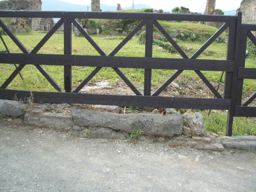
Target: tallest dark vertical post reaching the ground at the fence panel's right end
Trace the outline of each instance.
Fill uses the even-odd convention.
[[[239,53],[240,53],[241,22],[242,22],[242,13],[237,12],[236,28],[229,29],[229,30],[234,30],[236,36],[235,36],[235,46],[234,46],[235,50],[233,52],[233,54],[234,54],[234,56],[233,56],[234,57],[234,72],[232,75],[232,82],[231,82],[231,84],[229,84],[229,82],[228,82],[228,84],[226,84],[227,81],[229,81],[227,79],[227,78],[229,78],[229,75],[226,76],[227,81],[225,82],[225,84],[226,84],[225,86],[230,86],[230,88],[231,88],[231,91],[228,91],[228,92],[230,92],[230,95],[228,93],[226,93],[226,91],[225,91],[225,94],[226,94],[225,96],[230,96],[230,99],[231,99],[230,110],[228,111],[228,118],[227,118],[227,131],[226,131],[227,136],[232,136],[234,109],[235,109],[235,102],[236,102],[237,73],[238,73]],[[227,88],[227,87],[225,87],[225,88]]]

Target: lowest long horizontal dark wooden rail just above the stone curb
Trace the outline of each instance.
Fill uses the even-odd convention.
[[[26,99],[33,94],[34,102],[48,103],[78,103],[117,106],[137,106],[154,108],[183,108],[183,109],[230,109],[230,99],[202,99],[159,97],[142,95],[100,95],[63,92],[39,92],[0,89],[0,99]]]

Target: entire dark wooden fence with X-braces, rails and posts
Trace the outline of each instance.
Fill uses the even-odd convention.
[[[191,15],[191,14],[155,14],[155,13],[110,13],[110,12],[37,12],[37,11],[0,11],[3,17],[39,17],[39,18],[61,18],[58,23],[45,35],[45,37],[29,52],[17,39],[12,31],[0,19],[0,26],[22,50],[23,54],[1,53],[0,63],[19,64],[17,69],[0,87],[0,98],[12,100],[14,98],[24,99],[34,95],[35,102],[52,103],[80,103],[80,104],[102,104],[119,106],[145,106],[156,108],[186,108],[186,109],[219,109],[229,110],[227,135],[232,135],[233,116],[256,116],[256,108],[247,105],[256,97],[256,92],[243,104],[241,95],[243,79],[255,79],[256,69],[244,68],[247,35],[256,43],[251,30],[256,30],[256,25],[241,24],[241,13],[237,16],[222,15]],[[86,31],[80,26],[75,18],[94,19],[137,19],[142,20],[138,26],[109,54],[95,43]],[[173,38],[157,22],[157,20],[177,21],[202,21],[222,22],[223,26],[212,37],[196,51],[190,58],[176,44]],[[36,54],[48,39],[64,23],[64,55]],[[99,52],[100,56],[72,55],[71,52],[71,25],[74,25],[90,44]],[[116,57],[115,54],[144,26],[146,25],[145,57]],[[183,59],[152,58],[153,27],[156,26],[165,38],[179,52]],[[229,28],[228,49],[226,60],[206,60],[197,57],[216,40],[223,31]],[[6,89],[25,65],[35,65],[51,85],[59,92],[21,91]],[[41,65],[64,66],[65,92],[61,92],[59,85],[45,71]],[[72,66],[95,67],[92,73],[75,89],[72,89]],[[102,68],[111,67],[131,88],[135,95],[102,95],[78,93]],[[141,93],[132,82],[122,73],[119,68],[143,68],[144,93]],[[176,69],[177,71],[166,80],[153,94],[151,94],[152,69]],[[160,97],[158,96],[175,78],[184,70],[194,70],[204,81],[207,87],[216,96],[209,98],[182,98],[182,97]],[[212,86],[201,71],[225,71],[224,97]],[[73,92],[71,92],[74,90]]]

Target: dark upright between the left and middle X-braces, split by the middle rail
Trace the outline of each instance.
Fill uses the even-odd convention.
[[[72,54],[72,25],[71,19],[67,18],[64,21],[64,54]],[[72,90],[72,67],[64,66],[64,87],[66,92]]]

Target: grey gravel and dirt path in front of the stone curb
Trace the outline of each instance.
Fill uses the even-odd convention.
[[[0,122],[0,191],[256,191],[256,153],[85,139]]]

